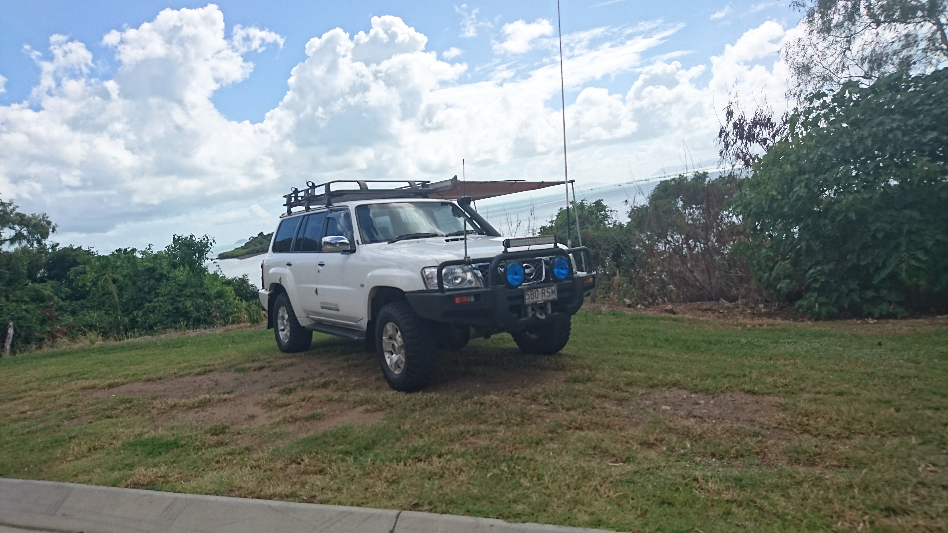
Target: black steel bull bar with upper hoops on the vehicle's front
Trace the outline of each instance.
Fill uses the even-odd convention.
[[[557,299],[551,303],[552,313],[544,318],[524,317],[522,307],[524,287],[511,287],[502,282],[499,267],[502,263],[541,257],[570,256],[582,254],[584,268],[588,268],[589,248],[544,248],[524,251],[506,251],[491,258],[446,261],[438,266],[437,289],[405,293],[415,312],[422,318],[437,322],[452,322],[469,325],[483,332],[501,332],[520,329],[534,324],[564,320],[575,314],[583,304],[586,291],[595,287],[595,274],[586,272],[577,275],[573,262],[570,275],[563,281],[544,281],[525,288],[556,285]],[[486,286],[447,290],[444,284],[444,269],[454,265],[476,265],[489,263]]]

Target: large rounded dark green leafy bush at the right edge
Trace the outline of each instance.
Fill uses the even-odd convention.
[[[817,317],[948,302],[948,71],[816,93],[738,202],[759,283]]]

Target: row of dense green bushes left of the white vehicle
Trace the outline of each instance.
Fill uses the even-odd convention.
[[[122,338],[167,329],[263,319],[245,277],[204,267],[213,241],[175,235],[162,250],[47,245],[46,215],[0,202],[0,335],[13,322],[13,350],[86,337]]]

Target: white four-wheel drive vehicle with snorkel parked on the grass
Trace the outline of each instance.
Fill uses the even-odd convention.
[[[364,340],[392,388],[412,391],[433,376],[436,349],[464,347],[472,330],[509,332],[531,354],[566,345],[595,285],[577,270],[586,248],[501,236],[469,196],[450,201],[456,176],[370,187],[388,183],[309,182],[285,195],[260,290],[283,352],[308,349],[313,331]]]

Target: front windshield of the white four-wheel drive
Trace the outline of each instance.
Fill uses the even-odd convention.
[[[397,202],[356,207],[365,244],[383,241],[446,237],[485,232],[465,211],[450,202]]]

